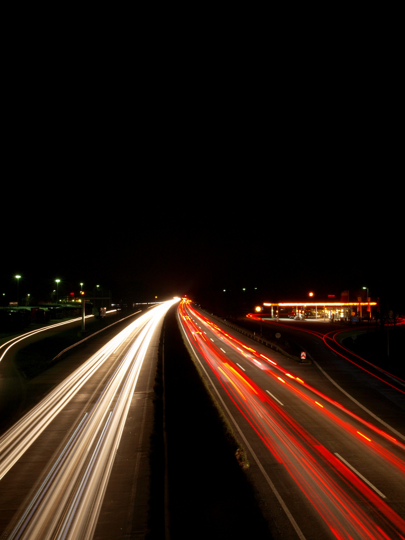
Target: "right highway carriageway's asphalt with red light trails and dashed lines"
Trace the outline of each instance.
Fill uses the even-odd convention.
[[[390,410],[404,414],[403,381],[356,366],[359,380],[345,388],[338,373],[354,365],[344,357],[346,372],[335,363],[328,373],[327,361],[299,365],[275,355],[188,301],[178,313],[195,361],[247,448],[275,535],[405,538],[405,426],[387,421]]]

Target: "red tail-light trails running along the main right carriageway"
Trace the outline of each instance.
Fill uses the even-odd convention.
[[[271,399],[272,394],[240,369],[238,363],[231,360],[231,354],[225,353],[224,347],[230,347],[232,354],[241,355],[251,362],[252,367],[265,373],[268,381],[273,381],[272,388],[274,381],[282,384],[284,396],[299,400],[304,410],[310,407],[312,417],[321,415],[331,433],[343,437],[357,453],[367,453],[370,459],[389,471],[387,474],[402,478],[405,485],[402,456],[405,447],[401,443],[234,338],[189,302],[180,303],[179,317],[190,343],[210,366],[228,399],[288,471],[329,529],[331,538],[405,538],[405,521],[390,507],[386,496],[363,481],[364,476],[356,474],[343,458],[336,457],[340,454],[328,449],[301,426],[281,401]],[[203,328],[207,333],[211,331],[214,338],[208,338]],[[218,343],[214,342],[215,337]],[[393,448],[389,448],[390,445]]]

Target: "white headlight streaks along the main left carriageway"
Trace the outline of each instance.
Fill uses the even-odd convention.
[[[3,467],[5,474],[49,425],[51,420],[48,415],[53,419],[97,367],[117,350],[119,343],[122,344],[123,350],[126,350],[125,355],[92,410],[85,415],[56,458],[55,464],[8,537],[10,540],[92,538],[147,348],[158,323],[174,302],[176,300],[161,304],[131,323],[68,377],[69,381],[63,381],[47,396],[48,399],[40,402],[35,413],[26,415],[18,427],[11,428],[2,437],[0,453],[9,457],[8,464]],[[135,333],[137,336],[133,341]],[[131,341],[132,345],[128,347]],[[69,399],[65,398],[65,387],[75,381],[75,392],[68,393]],[[46,411],[43,413],[42,409]],[[30,424],[27,422],[31,419],[33,433],[24,435],[24,428],[30,432]]]

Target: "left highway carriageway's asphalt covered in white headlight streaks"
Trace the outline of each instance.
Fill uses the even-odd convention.
[[[138,434],[143,430],[146,413],[136,409],[143,410],[151,392],[151,370],[141,388],[138,379],[145,359],[156,356],[156,349],[149,352],[151,342],[158,342],[161,321],[176,301],[129,323],[0,438],[2,538],[93,537],[125,426]],[[139,417],[137,424],[131,415]],[[135,453],[131,448],[127,463]],[[130,498],[136,491],[135,469],[128,470]],[[117,501],[115,507],[118,515]],[[97,537],[124,537],[132,527],[131,514],[117,520],[117,527],[118,532],[110,527]]]

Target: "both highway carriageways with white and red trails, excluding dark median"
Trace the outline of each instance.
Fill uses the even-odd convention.
[[[147,506],[148,366],[170,305],[100,346],[0,438],[2,540],[143,537],[146,522],[134,531],[134,516]],[[247,450],[275,538],[405,538],[403,381],[350,355],[332,334],[303,328],[319,354],[300,365],[188,301],[178,315]]]

